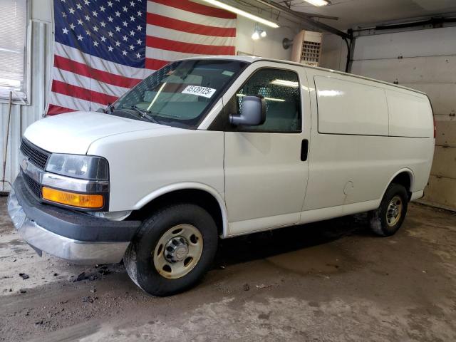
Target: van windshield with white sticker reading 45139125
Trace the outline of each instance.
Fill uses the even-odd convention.
[[[132,118],[180,128],[197,128],[212,104],[246,65],[242,61],[187,60],[170,63],[112,106]]]

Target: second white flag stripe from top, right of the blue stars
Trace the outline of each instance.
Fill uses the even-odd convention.
[[[201,34],[187,33],[149,24],[147,24],[146,34],[147,36],[169,39],[171,41],[217,46],[234,46],[235,39],[234,37],[203,36]]]

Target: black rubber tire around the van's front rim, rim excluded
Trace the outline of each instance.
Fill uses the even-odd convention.
[[[193,269],[177,279],[160,275],[154,265],[155,247],[165,232],[179,224],[191,224],[202,236],[202,254]],[[209,270],[217,252],[217,226],[212,216],[195,204],[172,204],[142,222],[123,257],[130,278],[147,294],[170,296],[190,289]]]

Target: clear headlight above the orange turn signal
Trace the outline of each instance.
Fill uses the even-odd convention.
[[[83,180],[108,180],[108,160],[90,155],[51,154],[46,171]]]

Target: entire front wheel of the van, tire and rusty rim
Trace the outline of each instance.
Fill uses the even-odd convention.
[[[177,294],[209,270],[217,242],[216,224],[206,210],[195,204],[173,204],[142,223],[125,252],[125,269],[147,294]]]

